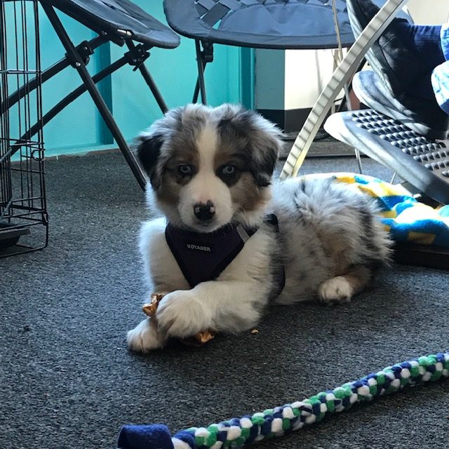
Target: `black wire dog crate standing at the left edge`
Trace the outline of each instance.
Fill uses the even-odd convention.
[[[48,243],[38,8],[0,0],[0,257]]]

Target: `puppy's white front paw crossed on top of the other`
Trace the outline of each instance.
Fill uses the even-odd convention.
[[[170,337],[191,337],[211,327],[210,311],[189,290],[163,297],[156,311],[159,329]]]

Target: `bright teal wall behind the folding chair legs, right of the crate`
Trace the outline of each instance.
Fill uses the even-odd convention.
[[[135,3],[166,23],[161,0],[135,0]],[[95,35],[72,18],[59,13],[58,15],[75,45]],[[41,61],[42,67],[46,68],[60,60],[65,51],[43,12],[40,25]],[[89,72],[98,72],[110,60],[120,58],[123,51],[124,48],[113,43],[102,46],[91,57]],[[192,101],[196,80],[194,41],[181,38],[180,46],[173,50],[152,48],[150,53],[146,64],[168,107],[177,107]],[[208,103],[220,105],[222,102],[243,102],[250,106],[253,100],[248,89],[252,83],[248,82],[246,77],[251,76],[252,52],[246,50],[242,53],[237,47],[216,45],[214,55],[214,62],[206,68]],[[43,112],[78,85],[79,76],[72,67],[45,83],[42,91]],[[133,140],[140,130],[161,117],[161,111],[149,88],[140,73],[133,72],[133,67],[123,67],[109,79],[102,81],[100,89],[127,140]],[[44,139],[47,156],[115,146],[109,130],[87,93],[48,123],[44,128]]]

